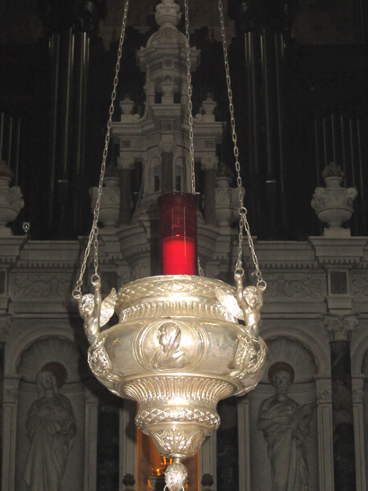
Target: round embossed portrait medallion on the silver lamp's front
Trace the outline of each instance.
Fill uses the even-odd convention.
[[[157,320],[136,338],[136,359],[145,368],[170,372],[188,370],[201,359],[205,332],[182,320]]]

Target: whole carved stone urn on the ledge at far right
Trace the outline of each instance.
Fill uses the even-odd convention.
[[[355,188],[343,188],[341,168],[331,163],[323,171],[326,188],[316,188],[311,206],[321,222],[328,225],[324,229],[325,237],[349,237],[350,229],[343,228],[353,215],[353,201],[357,196]]]

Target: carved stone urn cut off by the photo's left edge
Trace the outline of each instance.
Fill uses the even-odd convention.
[[[0,163],[0,237],[9,237],[12,231],[10,224],[19,215],[24,206],[22,191],[17,186],[10,187],[13,172],[6,162]]]

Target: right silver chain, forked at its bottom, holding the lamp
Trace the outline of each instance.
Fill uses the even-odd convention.
[[[232,104],[232,81],[230,78],[230,68],[229,68],[229,59],[227,56],[227,43],[226,43],[226,35],[225,35],[225,27],[223,21],[223,3],[221,0],[218,0],[218,10],[220,13],[220,24],[221,24],[221,36],[223,39],[223,60],[225,65],[225,73],[226,73],[226,85],[227,85],[227,97],[229,101],[229,111],[230,111],[230,123],[232,127],[232,143],[233,143],[233,154],[235,157],[235,170],[237,173],[236,182],[239,189],[239,208],[238,213],[240,215],[239,219],[239,243],[238,243],[238,259],[235,265],[235,272],[240,273],[241,276],[244,275],[244,269],[242,267],[242,241],[243,241],[243,231],[247,233],[248,243],[250,246],[251,257],[253,259],[255,272],[254,275],[257,276],[257,285],[258,288],[263,291],[266,290],[267,283],[262,277],[262,273],[258,266],[258,258],[256,251],[254,249],[253,239],[250,234],[250,224],[247,220],[247,208],[244,206],[244,193],[242,191],[242,181],[241,181],[241,163],[239,162],[239,148],[238,148],[238,136],[236,134],[235,127],[235,117],[234,117],[234,108]]]

